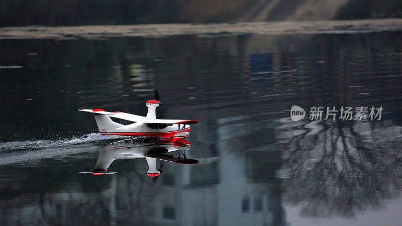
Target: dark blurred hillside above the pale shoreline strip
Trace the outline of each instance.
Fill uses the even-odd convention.
[[[400,17],[400,0],[0,0],[1,27]]]

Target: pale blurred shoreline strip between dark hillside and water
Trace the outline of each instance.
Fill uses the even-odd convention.
[[[346,34],[402,30],[402,19],[248,22],[220,24],[146,24],[2,27],[0,39],[77,39],[106,37],[164,37],[173,35]]]

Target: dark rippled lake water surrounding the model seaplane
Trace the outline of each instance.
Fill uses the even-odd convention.
[[[0,40],[1,224],[399,225],[400,37]],[[156,95],[158,118],[199,121],[186,139],[199,163],[158,160],[154,179],[113,154],[153,141],[100,140],[76,109],[146,115]],[[292,105],[383,112],[293,122]],[[116,174],[78,173],[101,153]]]

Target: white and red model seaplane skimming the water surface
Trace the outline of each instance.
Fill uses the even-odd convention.
[[[149,100],[145,104],[148,107],[146,117],[132,115],[120,111],[108,112],[103,109],[78,110],[93,113],[99,133],[102,135],[102,139],[108,134],[171,138],[173,142],[176,142],[190,135],[188,133],[188,131],[191,129],[190,126],[188,126],[189,124],[198,123],[196,120],[156,119],[155,110],[156,107],[161,104],[161,102],[158,100]],[[113,122],[110,117],[123,120],[122,124]],[[135,123],[127,125],[127,121]]]

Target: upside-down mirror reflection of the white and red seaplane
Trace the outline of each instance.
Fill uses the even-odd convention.
[[[185,151],[189,150],[190,146],[191,144],[184,140],[172,142],[171,139],[164,139],[145,145],[103,149],[99,151],[95,168],[91,171],[79,171],[79,173],[93,175],[115,174],[116,172],[114,171],[108,171],[114,160],[145,158],[148,163],[147,175],[156,177],[163,172],[161,169],[157,169],[156,160],[187,165],[197,164],[198,160],[186,158]],[[177,156],[169,154],[169,152],[173,151],[178,151]]]

